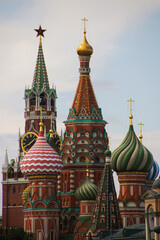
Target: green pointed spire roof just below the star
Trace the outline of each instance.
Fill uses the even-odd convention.
[[[41,41],[38,49],[37,63],[33,77],[32,89],[37,95],[39,95],[42,91],[45,91],[49,94],[49,81]]]

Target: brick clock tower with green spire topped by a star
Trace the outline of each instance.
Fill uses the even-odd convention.
[[[47,70],[44,61],[42,40],[43,30],[41,26],[36,29],[37,36],[40,36],[37,62],[33,77],[31,89],[25,89],[25,133],[19,134],[19,156],[18,160],[12,159],[8,161],[8,154],[2,166],[2,226],[6,229],[11,227],[23,227],[23,204],[22,193],[28,186],[28,180],[23,177],[20,170],[20,160],[28,151],[29,147],[35,142],[35,135],[39,132],[40,107],[42,107],[42,119],[45,128],[45,136],[49,136],[50,116],[52,116],[52,125],[54,132],[56,131],[56,90],[50,88]],[[30,135],[30,132],[31,135]],[[37,138],[37,135],[36,135]],[[22,139],[23,149],[22,151]],[[13,216],[17,216],[13,218]]]

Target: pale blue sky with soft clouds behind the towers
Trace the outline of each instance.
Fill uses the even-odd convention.
[[[90,76],[108,123],[110,149],[128,131],[127,100],[132,98],[134,130],[138,136],[143,122],[143,144],[160,164],[160,0],[0,0],[0,167],[6,147],[9,159],[18,156],[24,90],[33,80],[39,46],[34,29],[39,25],[47,29],[42,44],[50,87],[54,84],[58,94],[57,130],[65,129],[79,81],[76,49],[84,17],[94,51]]]

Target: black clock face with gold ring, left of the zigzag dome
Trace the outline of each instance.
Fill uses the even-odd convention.
[[[36,142],[38,135],[35,132],[26,133],[21,140],[21,147],[23,152],[28,152],[28,150]]]

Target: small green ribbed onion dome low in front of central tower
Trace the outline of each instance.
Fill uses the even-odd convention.
[[[95,200],[98,193],[98,187],[94,185],[89,176],[86,177],[84,182],[77,188],[75,195],[82,200]]]

